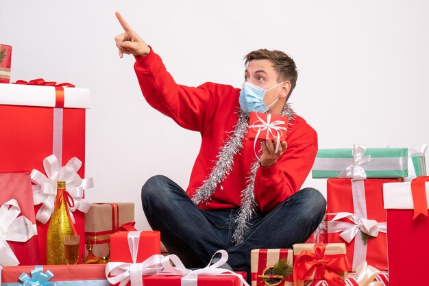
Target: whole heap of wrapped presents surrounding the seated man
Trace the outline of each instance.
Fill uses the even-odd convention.
[[[159,232],[134,229],[134,204],[89,203],[89,90],[10,84],[11,51],[0,45],[1,285],[248,285],[245,273],[219,268],[224,250],[217,263],[188,270],[180,257],[161,255]],[[252,250],[252,286],[425,285],[425,152],[319,150],[312,177],[328,179],[326,216],[304,244]],[[67,231],[79,235],[77,263],[58,260]]]

